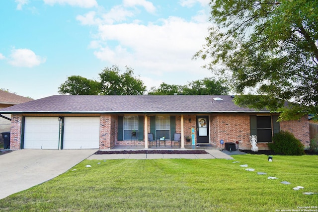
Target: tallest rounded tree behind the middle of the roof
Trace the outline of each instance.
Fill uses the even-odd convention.
[[[105,68],[99,73],[102,95],[142,95],[146,86],[141,79],[133,76],[134,71],[126,66],[126,71],[120,73],[118,66]]]

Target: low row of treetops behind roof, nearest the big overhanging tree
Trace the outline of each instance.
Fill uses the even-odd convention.
[[[225,95],[228,87],[223,85],[224,81],[213,78],[204,78],[188,82],[186,85],[169,85],[162,82],[159,88],[152,87],[148,95],[173,95],[175,93],[184,95]]]

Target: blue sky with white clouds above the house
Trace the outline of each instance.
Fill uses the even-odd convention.
[[[0,0],[0,88],[39,99],[68,76],[99,80],[125,66],[144,85],[211,77],[192,60],[208,28],[209,0]]]

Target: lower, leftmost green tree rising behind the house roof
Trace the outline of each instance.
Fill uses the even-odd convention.
[[[79,75],[69,76],[59,87],[60,94],[70,95],[98,95],[100,93],[100,83],[87,79]]]

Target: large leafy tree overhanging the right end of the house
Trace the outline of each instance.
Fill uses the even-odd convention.
[[[240,105],[283,112],[283,119],[318,113],[318,0],[213,0],[204,48],[194,58],[230,72]],[[264,97],[266,96],[266,97]],[[281,100],[298,104],[286,107]],[[299,116],[296,116],[298,114]]]

